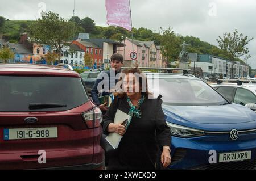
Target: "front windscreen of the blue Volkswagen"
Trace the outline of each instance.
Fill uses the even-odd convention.
[[[159,91],[156,91],[156,89]],[[152,90],[163,96],[163,104],[212,106],[228,103],[212,87],[196,79],[159,78],[159,86],[154,86]]]

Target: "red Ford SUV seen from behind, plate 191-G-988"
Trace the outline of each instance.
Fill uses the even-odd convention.
[[[101,121],[75,71],[0,64],[0,169],[104,169]]]

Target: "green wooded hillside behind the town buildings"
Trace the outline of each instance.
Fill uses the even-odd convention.
[[[85,20],[86,19],[86,20]],[[70,19],[76,23],[76,35],[74,35],[74,39],[78,35],[79,32],[88,32],[91,38],[106,38],[106,39],[113,39],[116,41],[122,41],[123,37],[131,37],[131,32],[125,30],[121,27],[100,27],[95,26],[94,20],[86,17],[81,19],[79,17],[73,17]],[[30,32],[30,26],[34,21],[26,21],[26,20],[5,20],[3,24],[2,30],[3,35],[9,36],[9,41],[11,43],[18,43],[20,34]],[[83,23],[85,22],[85,23]],[[0,27],[1,28],[1,27]],[[162,34],[156,33],[155,30],[152,31],[147,28],[133,28],[133,36],[134,39],[141,40],[141,41],[154,41],[156,45],[162,45],[163,37]],[[217,38],[217,37],[216,37]],[[227,58],[218,47],[211,45],[207,42],[201,41],[197,37],[193,36],[181,36],[176,34],[175,35],[175,43],[176,50],[173,55],[172,60],[176,60],[179,57],[179,52],[181,51],[180,45],[185,41],[187,44],[191,46],[187,47],[189,53],[197,53],[197,54],[212,54],[214,56],[219,56],[223,58]]]

